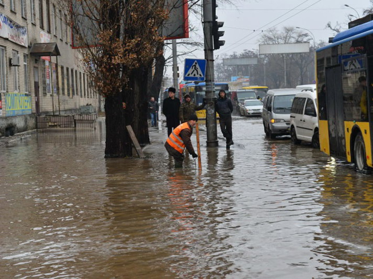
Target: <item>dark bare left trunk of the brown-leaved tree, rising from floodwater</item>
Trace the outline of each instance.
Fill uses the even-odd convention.
[[[132,157],[132,142],[126,130],[126,109],[123,109],[121,93],[106,97],[105,158]]]

